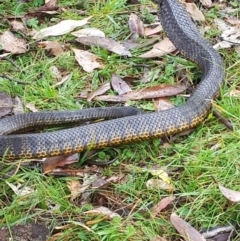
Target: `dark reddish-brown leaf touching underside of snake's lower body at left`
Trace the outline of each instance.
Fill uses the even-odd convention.
[[[78,162],[78,154],[48,157],[43,162],[42,170],[43,173],[46,174],[56,167],[62,167],[76,162]]]

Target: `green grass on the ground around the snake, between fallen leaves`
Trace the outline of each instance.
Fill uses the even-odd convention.
[[[41,1],[31,1],[17,5],[17,1],[3,1],[0,5],[1,15],[23,14],[41,5]],[[59,22],[62,19],[81,19],[75,12],[75,6],[93,15],[88,27],[97,27],[106,35],[117,41],[125,40],[129,36],[127,26],[129,13],[137,11],[136,6],[126,5],[126,1],[59,1],[66,11],[58,16],[44,19],[43,25],[49,21]],[[152,3],[148,3],[151,4]],[[206,12],[209,24],[211,18],[219,16],[218,8]],[[146,11],[137,12],[143,19],[151,20]],[[147,21],[146,20],[146,21]],[[1,32],[8,29],[7,22],[1,23]],[[41,26],[40,26],[41,27]],[[218,32],[213,27],[206,33],[206,38],[214,42]],[[72,46],[74,37],[67,35],[48,38],[66,42]],[[135,83],[134,89],[155,84],[174,83],[176,69],[183,69],[188,80],[199,78],[200,72],[196,66],[182,56],[165,56],[156,64],[154,60],[143,60],[137,55],[143,50],[134,50],[132,58],[123,58],[111,54],[106,50],[91,48],[92,52],[102,58],[105,68],[85,73],[74,60],[73,53],[65,51],[60,57],[49,57],[45,52],[30,44],[31,51],[10,58],[19,66],[18,71],[8,61],[1,61],[0,73],[5,73],[15,79],[25,81],[26,85],[17,84],[6,79],[0,79],[0,91],[11,96],[19,96],[23,104],[32,103],[39,110],[74,110],[88,106],[105,106],[106,103],[75,98],[85,88],[95,90],[102,83],[108,82],[113,73],[124,76],[141,78],[146,69],[140,64],[144,62],[152,73],[159,75],[157,80],[147,84]],[[223,197],[213,182],[212,177],[222,185],[240,190],[240,108],[239,98],[231,97],[230,91],[239,89],[240,61],[233,50],[220,51],[225,62],[225,85],[221,89],[220,98],[215,100],[216,106],[222,110],[222,115],[228,118],[234,130],[229,131],[212,114],[187,136],[169,139],[169,145],[162,145],[166,140],[150,140],[132,145],[118,147],[116,163],[103,169],[105,176],[124,173],[125,178],[120,183],[113,184],[106,190],[91,189],[88,203],[82,204],[79,199],[70,202],[70,192],[67,181],[70,177],[54,178],[44,176],[38,170],[21,167],[15,175],[4,177],[16,163],[1,162],[0,180],[0,226],[12,226],[26,222],[43,222],[50,230],[57,226],[68,224],[67,228],[58,231],[55,240],[150,240],[156,235],[167,240],[179,240],[179,236],[170,224],[169,217],[176,212],[196,229],[227,225],[231,222],[240,224],[240,206]],[[50,74],[49,67],[55,65],[59,69],[71,72],[71,79],[63,85],[52,88],[56,83]],[[179,67],[180,66],[180,67]],[[183,98],[172,98],[175,104],[182,104]],[[151,101],[132,101],[132,105],[152,109]],[[108,155],[108,149],[97,153],[99,157]],[[148,172],[138,172],[137,167],[152,168],[158,165],[167,169],[174,185],[173,194],[176,200],[157,217],[152,217],[149,208],[170,195],[161,189],[147,189],[146,182],[152,178]],[[128,167],[128,168],[127,168]],[[75,168],[80,168],[75,165]],[[80,178],[80,180],[82,180]],[[35,192],[26,197],[19,197],[13,193],[6,181],[17,185],[21,183]],[[128,215],[122,219],[109,220],[100,215],[90,216],[84,211],[99,205],[103,198],[104,204],[112,211],[128,210]],[[50,208],[53,206],[55,208]],[[87,225],[92,232],[79,225]],[[239,240],[239,236],[234,240]]]

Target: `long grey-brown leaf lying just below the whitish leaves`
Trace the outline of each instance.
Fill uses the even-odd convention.
[[[122,44],[109,38],[90,36],[77,38],[76,40],[81,44],[104,48],[110,52],[113,52],[121,56],[132,56],[131,53],[128,50],[126,50],[126,48],[123,47]]]

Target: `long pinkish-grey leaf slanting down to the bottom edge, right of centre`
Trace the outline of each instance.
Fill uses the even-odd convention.
[[[170,221],[174,228],[182,235],[186,241],[206,241],[205,238],[189,223],[172,213]]]

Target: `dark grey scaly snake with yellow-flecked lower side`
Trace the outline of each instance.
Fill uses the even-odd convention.
[[[45,126],[64,121],[74,123],[75,112],[26,113],[3,118],[0,121],[0,157],[15,160],[66,155],[89,149],[130,144],[136,141],[165,137],[202,123],[212,106],[212,100],[219,94],[224,82],[224,66],[220,55],[201,36],[195,23],[178,0],[155,0],[159,6],[158,15],[169,39],[187,58],[199,66],[202,76],[190,97],[183,105],[171,109],[136,114],[91,122],[63,130],[44,133],[15,134],[15,130],[28,126]],[[102,117],[111,113],[111,107],[82,110],[86,119],[89,113],[100,111]],[[120,111],[121,112],[121,111]],[[124,111],[123,111],[124,112]],[[131,112],[131,110],[130,110]],[[71,113],[71,114],[70,114]],[[80,114],[81,115],[81,114]],[[83,119],[85,119],[83,117]],[[97,119],[96,118],[96,119]],[[46,122],[46,123],[44,123]],[[21,124],[22,123],[22,124]],[[32,124],[31,124],[32,123]],[[11,134],[11,132],[13,132]]]

